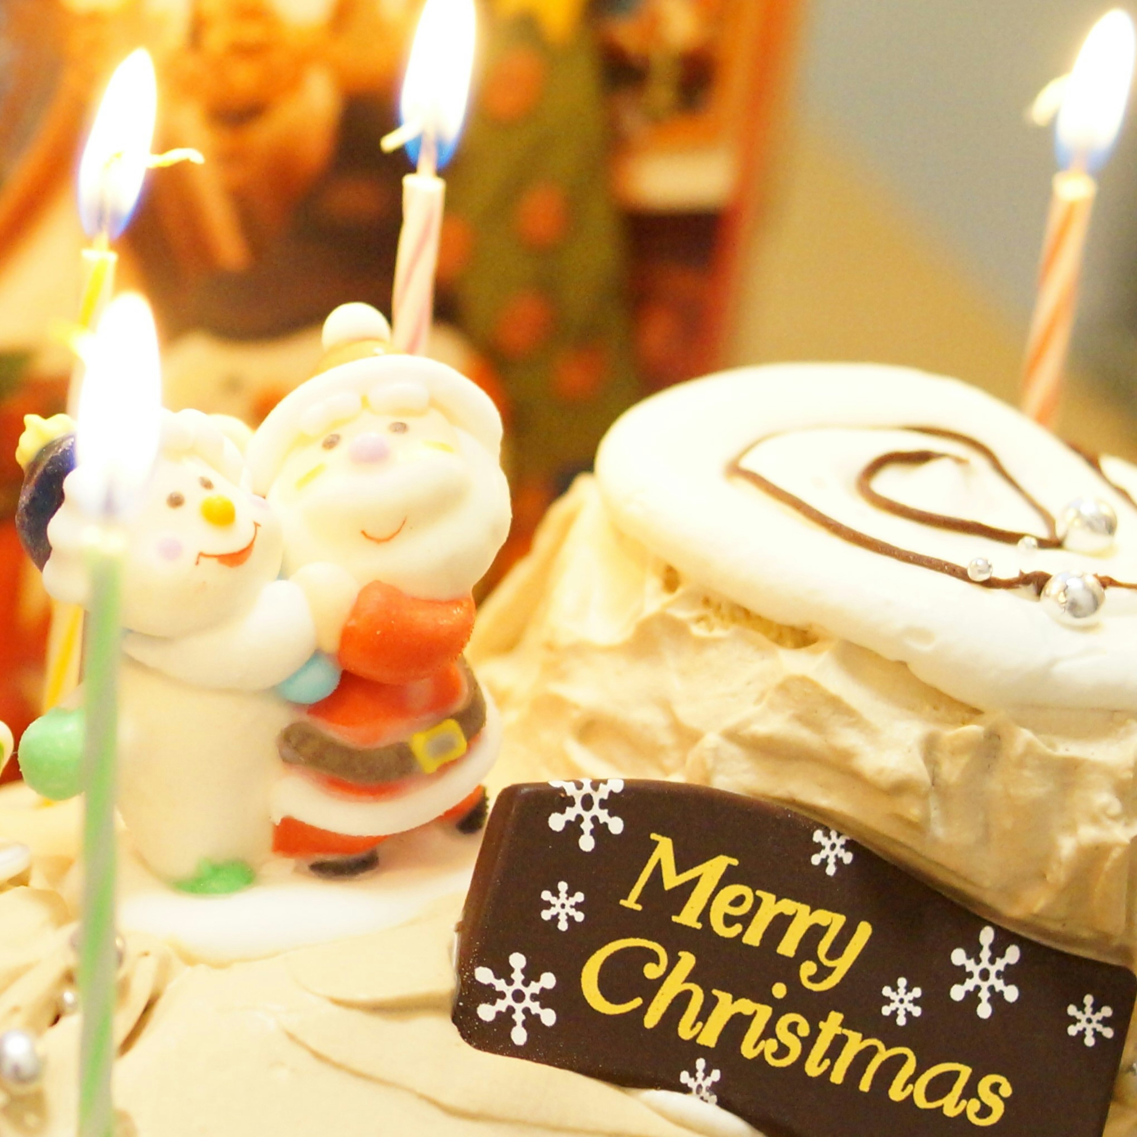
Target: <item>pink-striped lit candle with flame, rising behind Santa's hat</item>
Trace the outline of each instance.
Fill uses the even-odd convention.
[[[402,125],[384,150],[407,147],[417,160],[402,179],[402,230],[391,297],[392,343],[423,355],[434,314],[434,269],[449,161],[466,116],[474,64],[474,0],[426,0],[402,81]]]

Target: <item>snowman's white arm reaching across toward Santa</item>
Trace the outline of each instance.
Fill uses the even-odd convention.
[[[304,591],[276,580],[235,620],[172,639],[128,632],[123,649],[139,663],[196,687],[259,691],[304,666],[316,649],[316,628]]]

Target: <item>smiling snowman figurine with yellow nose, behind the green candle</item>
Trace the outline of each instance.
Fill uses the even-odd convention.
[[[88,600],[84,521],[70,498],[67,423],[27,435],[19,528],[52,598]],[[55,433],[57,437],[45,437]],[[315,650],[302,591],[277,580],[280,523],[241,488],[243,462],[217,422],[166,413],[161,455],[131,518],[123,580],[119,808],[149,868],[190,891],[231,891],[269,856],[276,735],[273,691]],[[81,691],[28,728],[26,781],[80,791]]]

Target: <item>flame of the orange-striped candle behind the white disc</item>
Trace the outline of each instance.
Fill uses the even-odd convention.
[[[1134,24],[1120,8],[1093,27],[1078,55],[1055,127],[1063,166],[1098,169],[1109,158],[1129,101]]]

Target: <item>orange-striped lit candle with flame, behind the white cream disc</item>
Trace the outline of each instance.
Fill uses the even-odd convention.
[[[1027,341],[1022,409],[1049,426],[1057,412],[1073,329],[1089,216],[1101,169],[1124,117],[1134,70],[1134,25],[1120,9],[1103,16],[1065,81],[1055,141],[1054,177],[1038,296]]]

